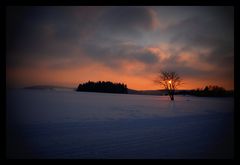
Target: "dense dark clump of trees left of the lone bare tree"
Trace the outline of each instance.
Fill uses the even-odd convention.
[[[77,91],[103,92],[103,93],[128,93],[127,85],[123,83],[112,83],[110,81],[98,81],[79,84]]]

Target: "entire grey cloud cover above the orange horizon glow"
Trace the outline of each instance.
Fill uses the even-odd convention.
[[[49,68],[63,69],[88,59],[118,70],[130,61],[146,73],[160,67],[213,76],[179,60],[190,53],[200,64],[224,66],[224,76],[233,73],[233,7],[8,7],[6,16],[8,67],[50,61]],[[152,44],[168,45],[169,58],[151,51]]]

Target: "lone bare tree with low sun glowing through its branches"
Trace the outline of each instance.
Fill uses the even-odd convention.
[[[168,71],[160,72],[155,82],[167,90],[168,95],[172,101],[174,100],[175,90],[179,85],[182,84],[182,80],[176,72]]]

